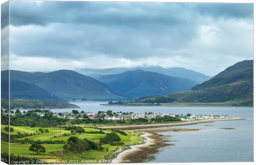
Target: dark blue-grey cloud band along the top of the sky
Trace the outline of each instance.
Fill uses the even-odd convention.
[[[184,24],[189,15],[252,18],[252,4],[159,3],[159,2],[61,2],[11,1],[13,26],[50,23],[102,24],[140,27],[142,25]]]

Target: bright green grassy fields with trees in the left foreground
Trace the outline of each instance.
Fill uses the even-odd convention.
[[[7,133],[4,128],[7,127],[7,125],[1,125],[1,131],[4,133]],[[24,126],[11,126],[14,131],[11,133],[12,135],[17,134],[17,132],[20,132],[21,134],[24,133],[35,133],[32,136],[26,136],[22,138],[18,138],[16,140],[24,140],[28,138],[29,140],[33,141],[67,141],[69,137],[74,136],[78,137],[80,139],[89,139],[91,141],[99,141],[101,138],[105,137],[106,134],[92,134],[92,133],[76,133],[76,134],[70,134],[69,136],[64,136],[64,133],[69,134],[71,133],[70,130],[64,130],[64,128],[59,127],[24,127]],[[44,132],[41,133],[38,129],[43,129]],[[45,129],[49,130],[49,132],[45,132]],[[96,128],[91,127],[83,127],[83,129],[86,132],[89,131],[99,131]],[[103,132],[110,133],[111,130],[102,130]],[[40,133],[39,133],[40,132]],[[119,134],[115,132],[120,138],[121,142],[125,143],[126,145],[129,144],[137,144],[142,142],[142,137],[139,137],[140,132],[137,131],[128,131],[126,132],[127,136]],[[5,141],[1,141],[1,151],[2,152],[8,152],[8,143]],[[41,160],[103,160],[103,159],[109,159],[114,157],[115,151],[119,150],[120,148],[127,148],[128,146],[110,146],[109,144],[103,145],[104,149],[108,148],[108,151],[86,151],[85,153],[69,153],[68,155],[65,155],[62,153],[62,148],[64,144],[42,144],[46,152],[40,153],[37,155],[35,152],[29,151],[29,147],[31,144],[19,144],[19,143],[11,143],[10,144],[10,153],[13,153],[14,155],[20,155],[20,156],[26,156],[29,158],[38,158]],[[69,162],[66,162],[69,163]],[[70,162],[72,163],[72,162]],[[73,162],[75,163],[75,162]],[[83,162],[78,162],[83,163]]]

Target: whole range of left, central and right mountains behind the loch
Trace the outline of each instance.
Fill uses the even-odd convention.
[[[1,71],[1,97],[5,99],[8,98],[7,77],[8,71]],[[238,62],[201,84],[191,78],[141,69],[101,75],[97,80],[69,70],[50,73],[11,70],[10,78],[11,99],[63,101],[128,100],[143,97],[130,103],[253,105],[253,60]]]

